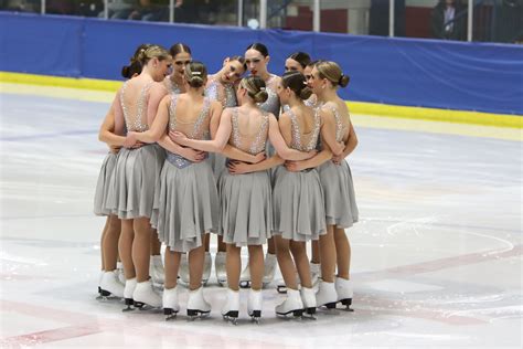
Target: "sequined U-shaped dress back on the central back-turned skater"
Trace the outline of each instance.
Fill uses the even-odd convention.
[[[250,155],[257,155],[265,150],[265,142],[269,133],[269,115],[263,113],[264,119],[259,125],[258,131],[255,135],[242,135],[239,131],[239,110],[233,108],[232,121],[233,130],[231,134],[232,144],[235,148],[246,151]]]

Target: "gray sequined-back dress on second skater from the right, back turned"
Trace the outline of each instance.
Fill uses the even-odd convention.
[[[314,113],[314,127],[303,134],[296,115],[287,112],[291,120],[290,148],[313,150],[320,134],[320,115]],[[274,235],[293,241],[318,240],[325,233],[323,190],[317,169],[290,172],[284,166],[275,171],[273,191]]]

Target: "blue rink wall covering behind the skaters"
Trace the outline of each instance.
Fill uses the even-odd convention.
[[[348,101],[523,115],[522,45],[0,13],[3,72],[121,80],[138,44],[177,42],[212,73],[262,42],[276,74],[296,51],[340,63]]]

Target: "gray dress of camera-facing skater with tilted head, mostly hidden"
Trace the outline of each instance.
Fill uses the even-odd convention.
[[[236,101],[236,93],[234,92],[234,86],[232,84],[222,84],[216,78],[212,78],[205,88],[205,96],[211,98],[211,101],[217,101],[222,104],[222,107],[231,108],[238,105]],[[209,160],[213,168],[214,178],[220,178],[220,173],[225,169],[226,157],[222,154],[211,152],[209,154]]]

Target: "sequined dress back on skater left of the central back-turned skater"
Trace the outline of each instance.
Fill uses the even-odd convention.
[[[207,97],[203,98],[202,110],[200,112],[196,120],[192,124],[192,128],[189,126],[189,131],[188,131],[186,127],[189,124],[181,123],[180,120],[177,119],[178,97],[179,95],[171,94],[171,105],[169,106],[169,130],[180,130],[184,133],[185,136],[188,136],[188,138],[191,138],[191,139],[205,139],[207,131],[205,129],[202,129],[202,125],[204,125],[206,119],[211,116],[210,114],[211,99]],[[182,124],[182,125],[179,125],[179,124]],[[182,126],[185,126],[185,127],[182,127]],[[173,154],[170,151],[167,151],[167,160],[180,169],[192,165],[190,160],[181,157],[178,154]]]

